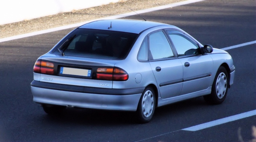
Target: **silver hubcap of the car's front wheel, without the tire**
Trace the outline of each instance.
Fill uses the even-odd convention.
[[[216,94],[219,99],[222,99],[227,90],[227,77],[224,73],[220,73],[216,80]]]

